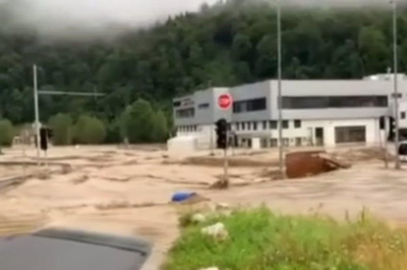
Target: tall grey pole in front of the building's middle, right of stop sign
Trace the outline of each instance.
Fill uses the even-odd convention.
[[[284,176],[283,164],[283,130],[282,130],[282,96],[281,96],[281,3],[277,0],[277,58],[278,58],[278,142],[279,142],[279,168],[281,176]]]

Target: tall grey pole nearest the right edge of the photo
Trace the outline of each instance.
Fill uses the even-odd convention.
[[[393,5],[393,72],[394,72],[394,119],[396,125],[396,136],[394,139],[394,144],[396,148],[396,170],[400,169],[400,157],[398,154],[398,148],[400,146],[400,133],[399,133],[399,112],[398,112],[398,84],[397,84],[397,73],[398,73],[398,56],[397,56],[397,1],[392,0],[390,3]]]

